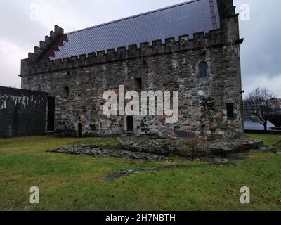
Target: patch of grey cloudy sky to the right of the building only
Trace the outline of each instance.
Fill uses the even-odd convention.
[[[264,86],[281,96],[281,1],[235,0],[237,12],[240,4],[251,9],[250,20],[240,21],[243,87],[249,93]]]

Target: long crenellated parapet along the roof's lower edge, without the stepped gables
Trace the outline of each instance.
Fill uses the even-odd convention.
[[[46,62],[30,63],[30,59],[28,59],[26,63],[23,61],[25,64],[22,67],[22,77],[25,75],[36,75],[39,73],[81,68],[133,58],[145,58],[181,51],[208,49],[214,45],[226,45],[226,43],[223,42],[224,40],[221,30],[214,30],[207,34],[204,34],[204,32],[196,33],[193,35],[192,39],[190,39],[188,35],[183,35],[178,38],[178,41],[172,37],[166,39],[164,43],[162,43],[161,40],[155,40],[152,41],[151,45],[147,42],[140,44],[139,47],[135,44],[119,47],[117,49],[108,49],[107,51],[98,51],[96,53],[93,52]],[[30,57],[34,57],[34,54]]]

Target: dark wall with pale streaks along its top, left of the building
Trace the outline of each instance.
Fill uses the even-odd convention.
[[[48,94],[0,86],[0,137],[43,134]]]

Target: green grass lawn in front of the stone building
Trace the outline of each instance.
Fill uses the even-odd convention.
[[[281,150],[281,136],[248,135]],[[280,210],[281,156],[249,153],[236,167],[207,162],[136,162],[47,153],[78,141],[115,147],[115,139],[55,139],[36,136],[0,140],[0,210]],[[164,165],[190,165],[123,176],[114,172]],[[40,204],[29,203],[29,189]],[[240,203],[240,188],[251,189],[251,204]]]

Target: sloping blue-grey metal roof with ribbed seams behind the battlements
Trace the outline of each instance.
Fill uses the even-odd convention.
[[[216,0],[195,0],[63,34],[41,60],[56,60],[220,28]]]

